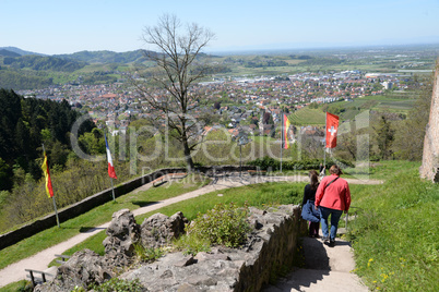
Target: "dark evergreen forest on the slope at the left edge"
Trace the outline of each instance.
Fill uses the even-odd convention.
[[[41,145],[49,150],[50,161],[63,167],[70,149],[68,133],[81,115],[63,100],[56,102],[23,98],[13,90],[0,89],[0,191],[11,191],[13,172],[19,169],[39,180]],[[92,121],[82,124],[79,133],[91,132]]]

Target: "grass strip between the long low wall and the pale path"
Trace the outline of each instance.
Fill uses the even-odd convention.
[[[5,247],[0,251],[0,269],[8,265],[29,257],[45,248],[63,242],[80,232],[84,232],[90,228],[97,227],[111,220],[111,215],[120,209],[128,208],[130,210],[138,209],[147,204],[178,196],[180,194],[191,192],[205,184],[203,178],[193,175],[187,177],[178,182],[174,181],[169,185],[162,187],[152,187],[137,194],[129,193],[118,197],[116,203],[109,202],[93,210],[78,216],[71,220],[61,223],[61,227],[47,229],[34,236],[23,240],[15,245]]]

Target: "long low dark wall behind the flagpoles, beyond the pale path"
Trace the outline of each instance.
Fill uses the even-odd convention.
[[[256,169],[254,167],[242,166],[242,170],[247,171],[249,169]],[[142,175],[140,178],[130,180],[122,184],[115,186],[115,197],[119,197],[121,195],[128,194],[129,192],[142,186],[143,184],[150,183],[167,173],[179,173],[185,172],[186,168],[165,168],[152,173]],[[221,173],[221,172],[230,172],[230,171],[239,171],[239,166],[218,166],[218,167],[202,167],[198,169],[198,171],[203,173]],[[90,211],[91,209],[100,206],[107,202],[112,199],[112,191],[111,188],[107,188],[97,194],[94,194],[90,197],[84,198],[81,202],[78,202],[69,207],[62,208],[58,210],[58,217],[60,222],[64,222],[69,219],[72,219],[76,216],[80,216],[84,212]],[[48,215],[44,218],[37,219],[31,223],[27,223],[20,229],[14,231],[4,233],[0,235],[0,250],[13,245],[24,239],[31,238],[38,232],[41,232],[46,229],[52,228],[57,224],[57,220],[55,217],[55,212]]]

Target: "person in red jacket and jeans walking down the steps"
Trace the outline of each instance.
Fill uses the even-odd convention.
[[[316,192],[316,208],[320,207],[323,242],[329,246],[335,245],[335,235],[340,217],[347,212],[351,206],[351,191],[347,182],[340,178],[342,170],[339,166],[330,168],[330,175],[324,177]],[[328,218],[331,216],[331,232]]]

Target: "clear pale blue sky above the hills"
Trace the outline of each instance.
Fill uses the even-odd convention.
[[[439,44],[439,0],[0,0],[0,47],[152,49],[143,29],[165,13],[213,32],[207,52]]]

